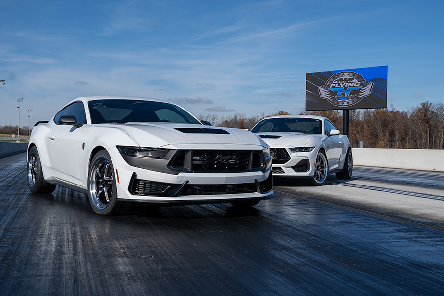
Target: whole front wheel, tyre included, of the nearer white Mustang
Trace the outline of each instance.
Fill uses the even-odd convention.
[[[114,167],[105,150],[94,155],[89,165],[88,200],[94,212],[100,215],[118,214],[125,205],[117,201]]]

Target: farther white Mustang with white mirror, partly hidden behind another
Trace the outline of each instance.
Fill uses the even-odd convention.
[[[350,142],[325,117],[285,115],[262,119],[251,130],[270,146],[273,176],[308,178],[324,185],[329,173],[350,179],[353,158]]]

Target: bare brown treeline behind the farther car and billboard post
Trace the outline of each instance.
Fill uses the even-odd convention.
[[[273,115],[286,115],[279,111]],[[304,111],[306,115],[329,118],[342,130],[342,110]],[[259,120],[268,117],[264,113],[247,117],[243,113],[229,116],[216,114],[199,115],[199,119],[212,125],[251,129]],[[444,104],[423,102],[405,112],[388,109],[350,110],[349,139],[352,147],[363,141],[364,148],[391,149],[444,149]]]

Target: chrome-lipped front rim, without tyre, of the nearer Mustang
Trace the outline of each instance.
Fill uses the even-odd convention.
[[[89,176],[89,197],[99,210],[105,209],[111,200],[114,189],[113,169],[110,161],[100,156],[91,166]]]

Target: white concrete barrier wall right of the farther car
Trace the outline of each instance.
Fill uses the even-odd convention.
[[[353,164],[444,172],[444,150],[352,148]]]

